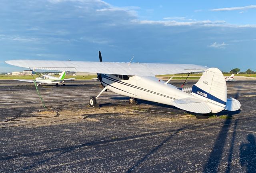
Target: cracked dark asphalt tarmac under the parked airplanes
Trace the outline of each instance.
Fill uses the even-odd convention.
[[[255,80],[228,82],[241,109],[208,119],[149,101],[128,105],[111,91],[88,107],[99,86],[40,86],[45,111],[33,84],[1,80],[0,172],[256,172]]]

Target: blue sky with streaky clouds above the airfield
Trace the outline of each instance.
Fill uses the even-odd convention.
[[[256,71],[255,1],[1,0],[5,60],[200,64]]]

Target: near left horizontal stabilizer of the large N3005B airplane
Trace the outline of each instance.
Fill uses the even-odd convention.
[[[191,97],[175,100],[173,105],[194,113],[210,113],[212,111],[205,101]]]

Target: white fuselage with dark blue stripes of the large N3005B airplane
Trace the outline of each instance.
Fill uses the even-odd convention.
[[[171,84],[164,84],[165,82],[159,81],[155,77],[101,74],[100,82],[120,95],[166,105],[172,105],[172,101],[176,99],[194,97]]]

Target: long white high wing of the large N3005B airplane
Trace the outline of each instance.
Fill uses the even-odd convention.
[[[162,74],[181,74],[202,72],[205,66],[193,64],[153,64],[124,62],[83,62],[83,61],[46,61],[46,60],[10,60],[7,64],[40,70],[58,70],[89,72],[102,74],[124,74],[137,76],[155,76]]]

